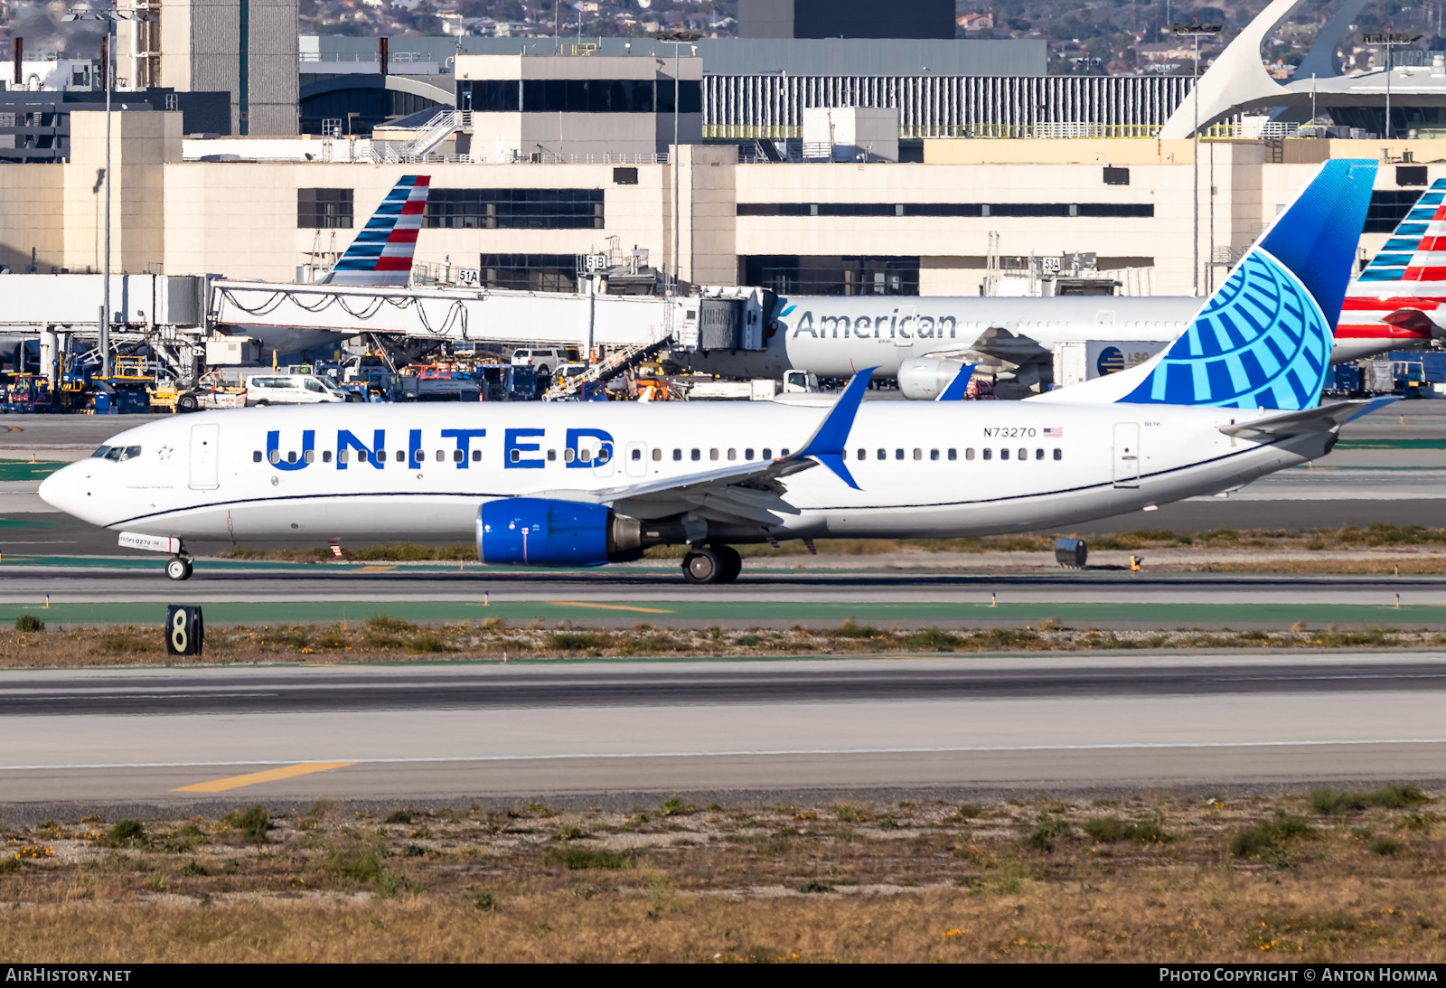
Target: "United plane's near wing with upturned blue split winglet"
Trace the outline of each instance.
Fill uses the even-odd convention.
[[[803,448],[787,457],[594,490],[536,490],[529,496],[603,503],[641,518],[691,511],[714,521],[777,525],[779,514],[800,514],[785,499],[785,479],[795,473],[823,464],[857,489],[843,463],[843,450],[872,373],[873,367],[868,367],[853,375]]]

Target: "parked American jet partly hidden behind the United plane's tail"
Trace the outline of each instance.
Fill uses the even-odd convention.
[[[1446,179],[1437,179],[1385,247],[1351,282],[1330,363],[1430,344],[1446,328]],[[765,350],[678,354],[693,370],[781,378],[813,370],[847,378],[872,366],[898,378],[907,398],[933,398],[980,356],[1019,365],[1019,382],[1048,378],[1057,343],[1161,344],[1194,320],[1205,299],[1178,295],[980,298],[901,295],[779,297]]]

